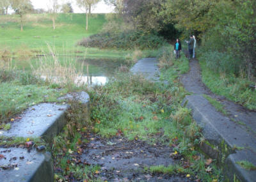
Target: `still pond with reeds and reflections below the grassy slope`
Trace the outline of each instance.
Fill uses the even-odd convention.
[[[58,56],[58,58],[42,56],[27,59],[24,57],[23,59],[13,59],[13,65],[24,71],[35,72],[39,67],[56,66],[54,65],[56,64],[54,59],[58,59],[58,63],[61,66],[76,69],[76,72],[80,73],[77,76],[76,82],[88,85],[106,84],[121,65],[127,65],[125,59],[86,59],[86,57],[77,56]],[[42,77],[45,79],[47,76],[42,73]]]

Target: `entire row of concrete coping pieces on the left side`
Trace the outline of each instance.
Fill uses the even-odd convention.
[[[83,119],[90,119],[90,96],[84,91],[69,93],[58,100],[76,100],[82,103]],[[5,137],[42,137],[47,142],[61,132],[67,124],[66,111],[69,105],[40,103],[29,107],[11,123],[8,131],[0,130]],[[0,181],[53,181],[50,153],[28,152],[22,148],[0,148]]]

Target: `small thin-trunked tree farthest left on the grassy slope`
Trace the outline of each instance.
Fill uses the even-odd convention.
[[[11,0],[12,9],[17,15],[20,15],[20,31],[23,31],[24,15],[33,11],[33,6],[30,0]]]

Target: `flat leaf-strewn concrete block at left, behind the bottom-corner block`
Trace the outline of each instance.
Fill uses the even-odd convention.
[[[16,119],[11,123],[10,130],[1,130],[1,135],[6,137],[43,137],[49,141],[67,124],[65,110],[67,110],[67,105],[54,103],[34,105],[20,114],[21,119]]]

